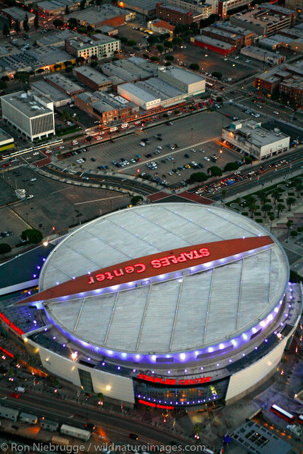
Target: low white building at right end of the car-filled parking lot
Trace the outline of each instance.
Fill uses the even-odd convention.
[[[222,138],[257,159],[277,155],[290,148],[289,136],[277,128],[274,131],[261,128],[260,122],[250,118],[234,121],[222,128]]]

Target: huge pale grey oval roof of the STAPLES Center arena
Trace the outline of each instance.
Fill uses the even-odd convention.
[[[226,248],[235,241],[224,241],[243,238],[255,240],[251,244],[256,246],[248,241],[246,253],[236,255],[233,248]],[[259,247],[262,240],[265,245]],[[216,260],[218,242],[222,242],[222,258]],[[40,292],[49,290],[52,295],[61,284],[71,289],[73,279],[76,287],[79,279],[88,282],[97,270],[122,267],[123,262],[139,262],[164,251],[169,255],[177,248],[201,248],[202,243],[210,252],[203,270],[190,268],[192,262],[174,276],[162,268],[158,280],[143,282],[144,275],[130,275],[128,281],[139,280],[121,289],[109,281],[114,287],[91,292],[83,288],[83,294],[77,289],[77,294],[64,297],[53,293],[53,299],[43,302],[48,316],[65,333],[108,349],[109,354],[114,350],[169,355],[219,343],[224,348],[226,340],[246,336],[243,333],[251,329],[255,333],[259,324],[266,326],[288,282],[284,251],[249,218],[197,204],[139,206],[87,223],[50,254],[40,274]],[[39,297],[29,298],[33,299]]]

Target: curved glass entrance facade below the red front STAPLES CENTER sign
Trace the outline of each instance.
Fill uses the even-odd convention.
[[[135,398],[155,404],[184,407],[203,405],[225,399],[229,377],[197,386],[169,387],[161,384],[133,380]]]

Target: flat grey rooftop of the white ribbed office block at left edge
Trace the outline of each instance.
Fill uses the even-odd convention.
[[[2,99],[9,102],[9,104],[12,104],[15,109],[18,109],[30,118],[43,114],[53,114],[51,109],[48,109],[48,107],[40,104],[40,102],[38,102],[31,93],[16,92],[6,94],[1,96],[1,100]],[[50,99],[47,101],[50,102]]]

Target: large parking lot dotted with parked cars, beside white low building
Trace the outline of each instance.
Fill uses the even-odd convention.
[[[176,118],[170,126],[162,124],[136,131],[121,139],[94,145],[87,153],[68,157],[62,164],[74,170],[94,170],[104,165],[109,167],[108,170],[129,175],[138,176],[143,172],[175,185],[188,179],[192,172],[206,172],[215,165],[209,160],[213,154],[219,155],[216,165],[221,168],[226,162],[238,159],[240,155],[232,150],[220,153],[220,145],[216,142],[221,138],[222,126],[228,123],[230,120],[219,114],[219,111],[203,111],[182,119]],[[158,134],[161,134],[162,140],[155,137]],[[143,140],[145,146],[140,145]],[[169,148],[168,145],[175,148]],[[199,150],[204,150],[204,153]],[[121,162],[128,162],[128,165],[118,167]],[[203,167],[194,168],[192,162]],[[181,170],[180,167],[185,168]]]

